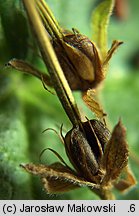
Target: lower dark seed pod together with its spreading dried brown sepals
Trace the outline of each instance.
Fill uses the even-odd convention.
[[[128,169],[128,146],[125,128],[119,121],[110,135],[98,120],[82,122],[82,128],[73,127],[65,137],[65,150],[73,167],[50,149],[60,162],[50,165],[22,164],[29,173],[38,175],[48,193],[63,193],[87,186],[101,199],[114,199],[111,189],[125,190],[136,180]]]

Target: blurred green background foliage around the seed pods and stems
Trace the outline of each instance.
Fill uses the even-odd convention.
[[[61,26],[77,28],[93,41],[91,14],[98,0],[48,0]],[[121,0],[122,2],[122,0]],[[122,16],[115,10],[108,28],[112,40],[124,41],[113,56],[101,92],[101,101],[108,114],[111,129],[122,118],[127,128],[130,167],[139,180],[139,1],[127,1]],[[52,131],[64,133],[71,128],[56,96],[45,91],[39,80],[4,67],[12,58],[24,59],[45,70],[38,57],[20,0],[0,0],[0,199],[99,199],[87,188],[61,195],[48,195],[40,179],[27,174],[20,163],[39,162],[40,152],[50,147],[68,162],[63,145]],[[31,45],[33,44],[33,48]],[[80,93],[74,93],[82,112],[94,115],[83,104]],[[42,162],[57,161],[45,152]],[[127,193],[114,191],[117,199],[139,199],[139,185]]]

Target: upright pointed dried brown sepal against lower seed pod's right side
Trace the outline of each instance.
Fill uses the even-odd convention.
[[[109,180],[115,180],[128,163],[128,145],[126,131],[121,121],[114,127],[111,138],[104,151],[102,167],[106,169],[105,184]]]

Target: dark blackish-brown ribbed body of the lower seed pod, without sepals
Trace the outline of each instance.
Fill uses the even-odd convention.
[[[100,161],[105,145],[110,138],[109,130],[98,120],[82,124],[83,130],[76,126],[65,137],[67,155],[78,173],[94,182],[100,174]]]

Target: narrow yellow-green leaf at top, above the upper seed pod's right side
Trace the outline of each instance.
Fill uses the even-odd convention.
[[[107,27],[114,6],[114,0],[104,0],[92,14],[93,41],[100,50],[102,60],[107,53]]]

